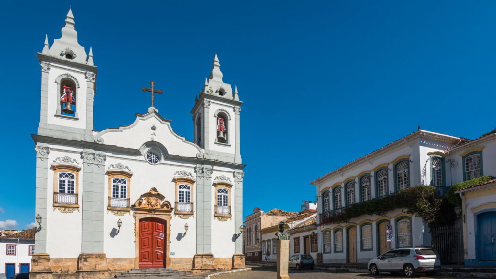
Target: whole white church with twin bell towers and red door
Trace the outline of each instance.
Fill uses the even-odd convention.
[[[215,56],[191,113],[194,142],[152,106],[93,130],[97,67],[69,10],[42,53],[33,278],[99,278],[130,269],[244,267],[237,90]],[[151,88],[143,90],[154,92]],[[100,93],[100,92],[99,92]],[[105,94],[104,92],[100,94]],[[59,276],[59,277],[58,277]]]

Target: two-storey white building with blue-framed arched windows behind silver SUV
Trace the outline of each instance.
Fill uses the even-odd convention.
[[[470,139],[419,130],[314,180],[318,194],[318,249],[323,263],[367,262],[391,248],[431,245],[430,230],[417,215],[395,209],[335,221],[350,205],[381,199],[415,185],[436,187],[494,175],[494,150]]]

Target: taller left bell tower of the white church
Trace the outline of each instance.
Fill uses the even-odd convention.
[[[93,101],[97,68],[91,47],[88,55],[77,41],[69,9],[62,37],[52,46],[45,38],[38,53],[41,66],[41,109],[38,134],[93,141]]]

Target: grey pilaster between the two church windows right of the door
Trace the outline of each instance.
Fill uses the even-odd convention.
[[[196,165],[196,254],[211,253],[212,166]]]

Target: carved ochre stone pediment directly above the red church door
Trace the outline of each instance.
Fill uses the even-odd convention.
[[[165,196],[160,194],[157,188],[151,188],[148,193],[141,195],[132,206],[132,209],[137,212],[168,214],[170,215],[173,208],[169,201],[165,200]]]

